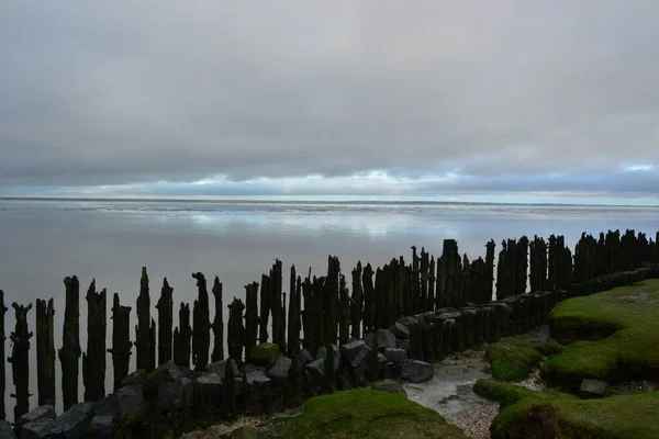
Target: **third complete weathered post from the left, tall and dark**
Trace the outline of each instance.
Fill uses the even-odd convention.
[[[80,349],[80,283],[77,277],[66,278],[63,344],[58,351],[62,362],[62,397],[64,409],[78,403],[78,371]]]

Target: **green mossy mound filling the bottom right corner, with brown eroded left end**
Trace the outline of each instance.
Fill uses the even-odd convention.
[[[492,439],[659,437],[659,392],[579,399],[494,380],[479,380],[473,391],[501,404],[501,413],[490,427]]]

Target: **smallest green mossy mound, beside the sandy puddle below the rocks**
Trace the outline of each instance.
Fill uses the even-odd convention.
[[[503,338],[489,345],[485,356],[492,364],[492,376],[501,381],[520,381],[540,365],[546,357],[555,356],[562,346],[554,341],[530,341]]]

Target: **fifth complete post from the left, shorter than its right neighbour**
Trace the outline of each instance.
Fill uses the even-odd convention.
[[[121,306],[119,294],[114,293],[112,304],[112,369],[114,371],[114,390],[121,387],[121,382],[129,375],[131,361],[131,307]]]

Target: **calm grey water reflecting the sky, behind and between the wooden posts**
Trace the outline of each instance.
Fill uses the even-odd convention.
[[[99,290],[107,288],[109,295],[119,292],[122,303],[134,308],[143,266],[152,281],[152,305],[163,277],[175,289],[177,307],[181,301],[192,302],[197,289],[191,273],[197,271],[209,281],[220,275],[226,303],[234,295],[244,297],[244,285],[260,281],[275,258],[283,261],[286,291],[290,264],[299,274],[310,267],[322,274],[328,255],[337,256],[349,274],[358,260],[380,266],[399,255],[409,259],[413,245],[438,256],[446,238],[457,239],[460,251],[470,258],[484,256],[490,238],[499,244],[522,235],[562,234],[573,248],[582,232],[635,228],[654,237],[658,214],[659,207],[629,206],[0,200],[0,289],[5,304],[54,297],[59,347],[66,275],[80,279],[85,337],[83,296],[92,278]],[[33,327],[34,311],[29,316]],[[13,324],[10,307],[8,333]],[[9,349],[7,342],[8,354]],[[33,339],[33,356],[34,351]],[[110,376],[110,357],[108,365]],[[31,381],[36,394],[34,374]],[[9,390],[13,386],[8,364]]]

